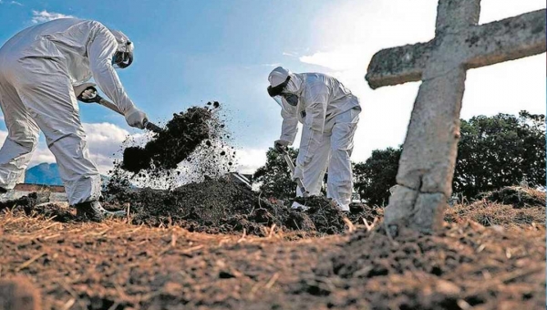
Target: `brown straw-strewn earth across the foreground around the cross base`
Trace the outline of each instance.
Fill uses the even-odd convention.
[[[335,234],[5,209],[0,309],[540,309],[544,202],[504,188],[450,207],[439,234],[397,236],[369,207]]]

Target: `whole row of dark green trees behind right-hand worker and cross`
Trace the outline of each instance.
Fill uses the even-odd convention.
[[[521,111],[518,116],[460,119],[460,134],[452,184],[455,193],[472,198],[522,181],[531,187],[545,186],[544,115]],[[370,158],[354,164],[354,190],[362,200],[371,205],[387,204],[389,188],[396,184],[402,149],[374,150]],[[290,150],[293,159],[297,153]],[[296,185],[283,156],[270,149],[266,157],[253,181],[261,184],[265,197],[293,198]]]

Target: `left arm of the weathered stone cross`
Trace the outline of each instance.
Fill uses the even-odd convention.
[[[366,81],[370,88],[414,82],[421,79],[434,41],[382,49],[370,60]]]

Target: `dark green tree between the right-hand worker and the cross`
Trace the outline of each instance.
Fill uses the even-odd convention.
[[[361,199],[372,205],[384,205],[389,188],[396,184],[398,160],[402,148],[374,150],[365,162],[354,166],[354,187]]]

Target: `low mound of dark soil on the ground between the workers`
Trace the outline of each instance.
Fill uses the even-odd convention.
[[[113,194],[112,194],[113,192]],[[208,179],[183,185],[173,191],[121,190],[105,194],[106,204],[130,204],[131,222],[160,226],[176,224],[191,232],[245,233],[267,235],[278,231],[306,235],[344,233],[346,214],[323,197],[299,199],[306,210],[294,210],[260,197],[243,184],[226,179]],[[366,216],[374,221],[366,206],[351,214],[356,223]],[[361,221],[361,222],[359,222]]]

